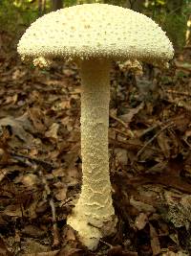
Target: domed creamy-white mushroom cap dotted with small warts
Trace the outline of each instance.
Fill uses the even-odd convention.
[[[167,62],[172,43],[152,19],[117,6],[84,4],[50,12],[18,43],[24,59],[138,59]]]

